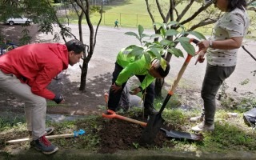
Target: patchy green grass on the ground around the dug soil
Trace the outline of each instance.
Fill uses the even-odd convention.
[[[256,98],[243,99],[243,103],[253,103]],[[157,108],[161,107],[161,100],[155,102]],[[180,102],[182,103],[182,102]],[[102,106],[103,108],[103,106]],[[174,108],[174,107],[171,107]],[[222,110],[217,110],[215,115],[215,130],[213,133],[204,133],[204,140],[202,142],[189,142],[186,140],[175,141],[174,139],[166,140],[167,143],[174,144],[174,147],[164,147],[161,150],[178,150],[178,151],[202,151],[202,152],[220,152],[226,153],[230,150],[244,150],[254,152],[256,150],[256,134],[255,130],[246,126],[243,122],[242,112],[236,111],[237,116],[229,116],[229,112],[233,112],[232,109],[222,106]],[[128,117],[132,117],[134,114],[138,114],[141,110],[130,110]],[[189,118],[198,115],[198,110],[181,110],[167,108],[162,117],[166,120],[170,126],[174,126],[175,130],[192,132],[191,126],[195,124],[189,121]],[[17,135],[26,135],[26,122],[25,118],[20,115],[5,114],[6,117],[1,117],[0,127],[0,144],[5,141],[6,135],[15,137]],[[103,120],[104,121],[104,120]],[[86,136],[80,136],[79,138],[66,138],[66,139],[54,139],[52,142],[62,149],[84,149],[87,151],[96,151],[100,144],[100,138],[98,137],[98,131],[102,129],[102,118],[100,116],[88,116],[86,118],[78,119],[75,121],[67,122],[47,122],[47,126],[54,126],[55,134],[67,134],[73,133],[74,130],[86,130]],[[4,124],[4,125],[3,125]],[[134,142],[134,150],[140,150],[138,142]],[[20,146],[22,149],[28,149],[28,144]],[[8,145],[6,146],[8,148]],[[5,150],[3,146],[1,150]],[[158,150],[158,148],[155,148]]]

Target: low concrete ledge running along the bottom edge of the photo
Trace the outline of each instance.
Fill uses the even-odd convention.
[[[161,150],[138,150],[138,151],[119,151],[115,154],[98,154],[86,152],[85,150],[58,150],[56,154],[45,155],[36,150],[16,150],[13,154],[7,156],[0,154],[0,159],[26,159],[26,160],[255,160],[256,154],[245,151],[234,151],[229,153],[202,153],[198,152],[178,152],[178,151],[161,151]]]

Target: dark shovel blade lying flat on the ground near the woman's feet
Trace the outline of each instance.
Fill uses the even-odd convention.
[[[175,130],[165,130],[161,128],[160,130],[166,132],[166,137],[168,138],[180,138],[180,139],[189,139],[194,141],[202,141],[203,137],[202,134],[190,134],[187,132],[180,132]]]

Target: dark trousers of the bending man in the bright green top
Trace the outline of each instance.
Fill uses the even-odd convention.
[[[113,72],[113,78],[112,78],[112,84],[117,80],[118,75],[120,72],[123,70],[122,66],[118,65],[118,63],[115,63],[114,66],[114,72]],[[140,82],[144,80],[146,75],[135,75]],[[108,102],[108,108],[110,110],[116,110],[118,107],[118,103],[120,101],[120,98],[122,96],[122,90],[126,86],[126,82],[122,83],[122,89],[118,90],[116,93],[111,90],[110,88],[110,94],[109,94],[109,102]],[[142,90],[142,93],[144,94],[145,90]],[[146,87],[146,97],[145,97],[145,102],[144,106],[145,108],[153,108],[154,105],[154,83],[152,82],[149,86]]]

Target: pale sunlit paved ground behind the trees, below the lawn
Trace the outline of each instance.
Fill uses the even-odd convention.
[[[70,25],[70,28],[74,30],[74,34],[78,36],[78,26]],[[98,74],[106,74],[107,72],[112,73],[114,69],[114,61],[118,51],[122,49],[122,47],[129,46],[131,44],[138,44],[139,42],[133,36],[128,36],[124,33],[127,31],[138,32],[138,29],[114,29],[113,27],[100,26],[98,29],[97,36],[97,44],[94,51],[94,56],[90,61],[89,67],[90,70],[88,72],[88,78],[93,78]],[[146,30],[146,34],[154,34],[154,30]],[[47,41],[52,38],[50,35],[41,34],[39,38],[42,41]],[[87,26],[84,26],[83,33],[84,41],[89,43],[89,29]],[[245,46],[247,50],[250,50],[252,54],[256,57],[254,50],[256,50],[256,42],[245,40]],[[185,53],[186,55],[186,53]],[[173,57],[170,61],[170,74],[167,77],[167,82],[172,82],[176,75],[178,74],[178,70],[182,66],[185,58],[175,58]],[[202,79],[206,69],[206,62],[203,64],[194,65],[196,58],[192,58],[189,66],[186,69],[182,77],[182,83],[185,85],[189,85],[190,87],[196,87],[198,89],[201,88]],[[78,65],[70,67],[69,70],[72,70],[72,73],[76,73],[75,76],[71,76],[71,81],[79,81],[80,73],[78,69]],[[68,70],[68,71],[69,71]],[[74,70],[78,70],[78,72],[74,72]],[[236,66],[236,70],[234,74],[230,76],[226,80],[227,86],[229,88],[227,91],[233,92],[234,87],[237,88],[239,94],[243,94],[246,92],[256,93],[256,76],[253,76],[251,71],[256,70],[256,62],[253,58],[250,57],[242,48],[239,50],[238,54],[238,64]],[[244,82],[246,78],[249,79],[248,84],[241,85],[241,82]],[[234,92],[233,92],[234,93]],[[235,94],[235,93],[234,93]]]

